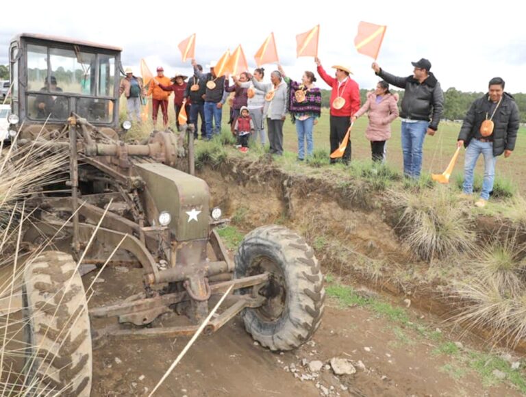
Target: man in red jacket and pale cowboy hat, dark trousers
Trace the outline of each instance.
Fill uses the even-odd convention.
[[[318,74],[320,77],[332,87],[331,92],[331,118],[330,118],[330,142],[331,153],[340,146],[347,130],[351,126],[351,118],[360,109],[360,88],[358,83],[351,79],[349,75],[352,74],[351,68],[339,64],[332,68],[336,69],[336,78],[327,75],[321,61],[318,57],[314,58],[314,62],[318,66]],[[351,160],[351,139],[343,153],[342,161],[349,164]],[[336,159],[330,159],[331,164],[336,162]]]

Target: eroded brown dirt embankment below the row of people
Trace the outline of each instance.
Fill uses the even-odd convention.
[[[288,175],[273,164],[238,158],[218,168],[205,166],[198,176],[210,185],[212,205],[240,229],[269,223],[296,229],[314,247],[325,272],[410,298],[412,305],[444,319],[458,309],[438,268],[447,261],[438,266],[421,261],[403,244],[400,212],[389,192],[378,192],[364,181]],[[473,225],[480,242],[510,233],[519,242],[526,240],[524,231],[493,218],[477,218]],[[486,331],[477,333],[487,336]]]

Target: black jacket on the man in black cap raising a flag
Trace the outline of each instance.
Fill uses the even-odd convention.
[[[438,129],[438,123],[444,112],[444,92],[433,73],[429,73],[429,77],[422,84],[413,76],[397,77],[384,69],[381,69],[377,75],[393,86],[405,88],[401,118],[430,121],[429,128],[435,131]]]

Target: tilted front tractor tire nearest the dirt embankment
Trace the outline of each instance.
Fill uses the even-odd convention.
[[[292,350],[312,337],[325,309],[325,289],[318,259],[297,233],[270,225],[245,236],[234,257],[236,279],[270,272],[260,289],[241,294],[266,296],[262,307],[245,309],[245,329],[271,350]]]

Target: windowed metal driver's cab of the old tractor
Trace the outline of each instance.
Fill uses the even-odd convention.
[[[121,48],[20,34],[10,44],[12,129],[64,125],[71,112],[97,127],[118,127]],[[16,123],[13,123],[16,122]]]

